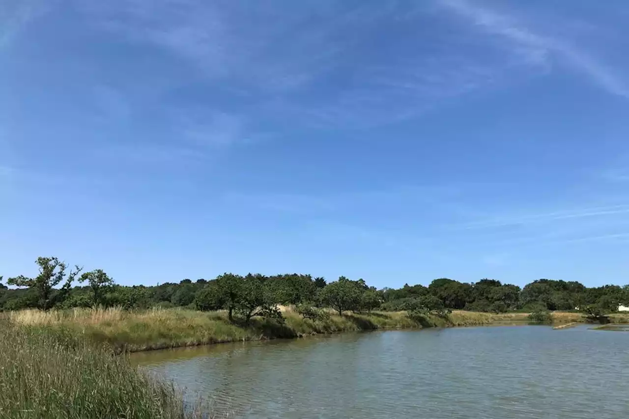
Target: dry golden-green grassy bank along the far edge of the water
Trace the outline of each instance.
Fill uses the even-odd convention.
[[[53,328],[104,343],[116,352],[138,352],[195,345],[295,338],[320,333],[359,332],[389,328],[466,327],[527,323],[528,313],[476,313],[453,311],[447,316],[411,318],[405,311],[372,313],[329,313],[321,320],[304,319],[290,308],[282,315],[284,323],[253,318],[249,325],[233,324],[224,311],[201,312],[182,309],[125,311],[118,308],[72,310],[23,310],[8,313],[11,323],[28,328]],[[554,323],[584,321],[579,313],[553,313]],[[628,321],[629,316],[615,322]]]

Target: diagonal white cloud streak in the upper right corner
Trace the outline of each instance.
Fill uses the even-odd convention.
[[[525,57],[531,64],[547,66],[552,59],[560,60],[611,94],[629,98],[629,86],[620,74],[616,74],[569,40],[537,33],[514,16],[498,13],[478,2],[440,0],[440,4],[486,33],[508,41],[508,48]]]

